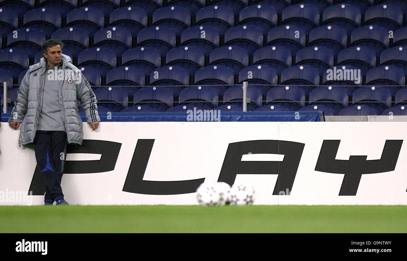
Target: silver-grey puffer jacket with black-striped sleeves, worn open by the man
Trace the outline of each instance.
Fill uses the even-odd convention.
[[[48,76],[45,73],[46,67],[45,58],[41,58],[39,63],[31,65],[18,89],[9,122],[22,122],[18,140],[21,145],[32,143],[37,132],[45,77]],[[71,58],[64,54],[62,54],[62,69],[63,72],[74,71],[77,73],[72,77],[64,77],[63,84],[59,88],[59,107],[63,127],[67,134],[68,144],[82,145],[83,123],[78,114],[77,100],[81,102],[88,123],[91,123],[100,121],[96,96],[80,70],[72,65]]]

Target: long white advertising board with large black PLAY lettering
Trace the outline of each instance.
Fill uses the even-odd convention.
[[[68,150],[77,205],[196,205],[204,180],[244,181],[258,205],[407,205],[407,123],[102,122]],[[19,130],[0,128],[0,205],[42,205]],[[19,193],[32,196],[19,198]]]

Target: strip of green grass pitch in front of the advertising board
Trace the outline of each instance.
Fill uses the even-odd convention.
[[[407,233],[407,206],[1,206],[1,233]]]

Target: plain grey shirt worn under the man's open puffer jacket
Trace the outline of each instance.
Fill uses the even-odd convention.
[[[62,69],[61,66],[58,69]],[[44,97],[42,99],[42,110],[39,114],[39,123],[37,130],[43,131],[63,131],[65,130],[62,123],[61,109],[59,108],[59,88],[63,84],[63,80],[57,80],[57,75],[50,76],[49,71],[54,71],[54,68],[47,68],[44,73]]]

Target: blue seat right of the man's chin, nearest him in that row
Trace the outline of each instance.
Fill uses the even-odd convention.
[[[78,65],[98,69],[104,77],[108,71],[116,68],[116,54],[105,47],[92,47],[78,54]]]

